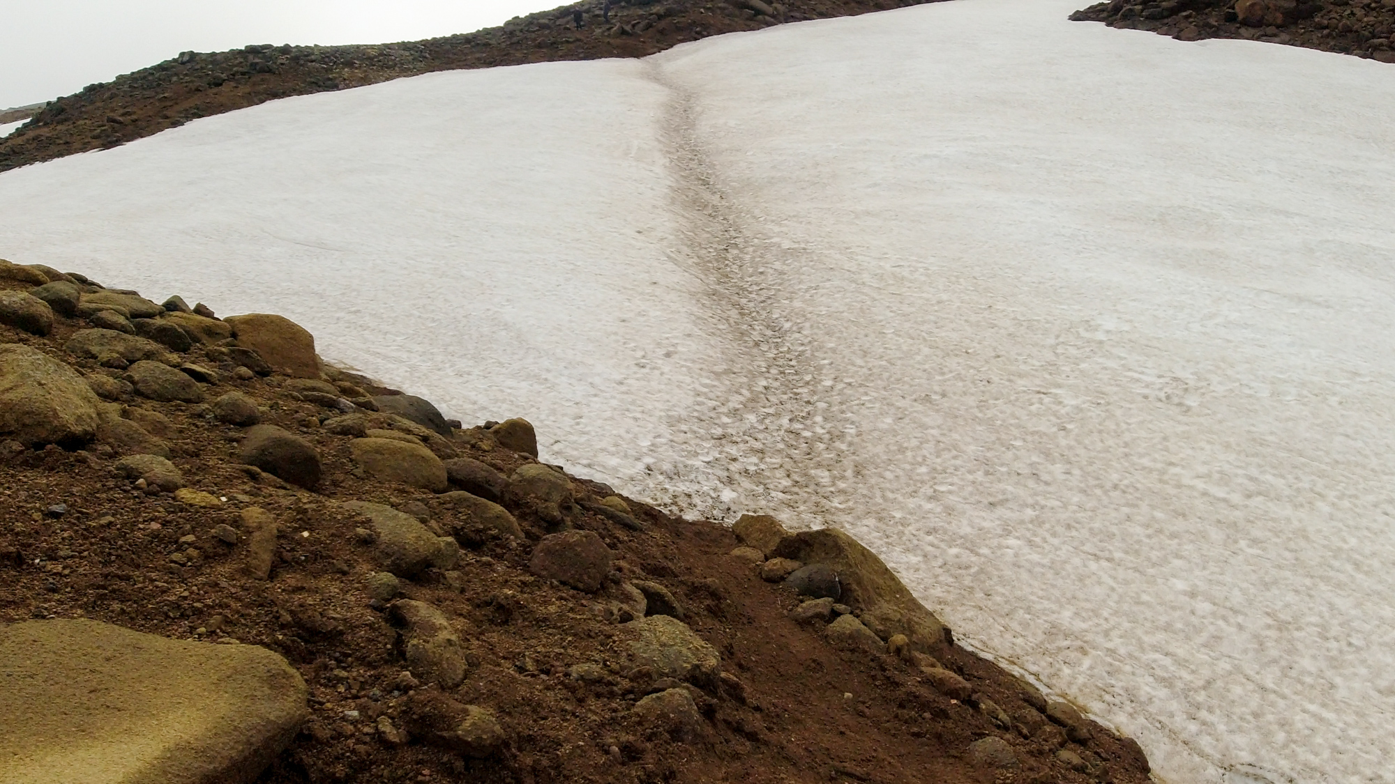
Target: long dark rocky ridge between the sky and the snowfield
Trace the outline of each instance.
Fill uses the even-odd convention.
[[[688,40],[788,21],[848,17],[929,0],[586,0],[504,27],[375,46],[251,45],[184,52],[49,102],[0,141],[0,172],[128,141],[276,98],[363,86],[431,71],[552,60],[643,57]],[[578,13],[580,27],[578,27]],[[17,116],[14,120],[27,117]],[[13,121],[13,120],[11,120]]]

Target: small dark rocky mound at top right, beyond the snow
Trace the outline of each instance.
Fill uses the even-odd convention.
[[[1395,0],[1110,0],[1070,18],[1179,40],[1243,38],[1395,63]]]

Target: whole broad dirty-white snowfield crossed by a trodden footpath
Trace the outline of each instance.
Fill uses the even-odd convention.
[[[1395,70],[965,0],[287,99],[0,255],[873,544],[1176,784],[1395,781]]]

